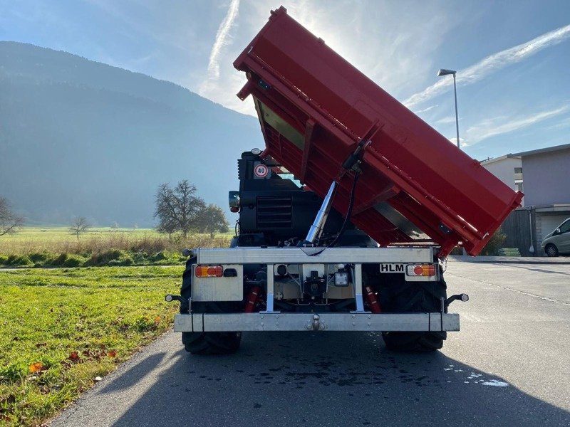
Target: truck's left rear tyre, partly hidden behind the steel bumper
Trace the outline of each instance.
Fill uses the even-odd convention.
[[[192,265],[197,258],[192,257],[186,262],[186,270],[182,274],[180,296],[185,301],[192,296]],[[180,304],[180,312],[188,312],[188,303]],[[224,312],[224,307],[214,302],[198,302],[192,304],[193,312]],[[239,349],[242,342],[242,332],[182,332],[182,344],[187,352],[192,354],[229,354]]]

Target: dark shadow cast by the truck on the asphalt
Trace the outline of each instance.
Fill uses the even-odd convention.
[[[103,391],[129,387],[163,357]],[[569,412],[502,378],[442,352],[388,352],[377,333],[249,333],[237,354],[172,358],[115,426],[570,425]]]

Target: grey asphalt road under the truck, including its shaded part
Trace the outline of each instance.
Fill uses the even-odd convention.
[[[440,352],[276,332],[196,357],[169,333],[51,426],[570,426],[570,265],[454,262],[445,278],[470,301]]]

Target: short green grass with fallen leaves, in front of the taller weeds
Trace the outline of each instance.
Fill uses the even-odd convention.
[[[0,271],[0,425],[50,418],[165,332],[182,269]]]

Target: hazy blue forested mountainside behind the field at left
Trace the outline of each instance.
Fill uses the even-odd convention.
[[[0,42],[0,196],[32,223],[152,226],[157,185],[180,179],[227,210],[239,154],[262,146],[254,117],[173,83]]]

